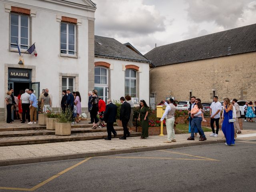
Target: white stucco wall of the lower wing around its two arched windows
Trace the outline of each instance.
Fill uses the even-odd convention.
[[[144,62],[135,62],[129,60],[116,60],[112,58],[95,57],[95,62],[107,62],[110,64],[110,88],[109,94],[112,100],[119,100],[125,96],[125,66],[136,65],[139,68],[137,72],[137,93],[139,100],[145,100],[149,105],[149,64]]]

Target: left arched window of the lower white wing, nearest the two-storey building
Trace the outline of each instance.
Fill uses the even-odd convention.
[[[94,68],[94,89],[98,91],[98,96],[107,102],[108,98],[108,70],[104,67]]]

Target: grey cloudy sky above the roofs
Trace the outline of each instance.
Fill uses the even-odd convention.
[[[256,0],[92,0],[95,35],[155,46],[256,23]]]

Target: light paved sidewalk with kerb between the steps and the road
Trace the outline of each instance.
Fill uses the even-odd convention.
[[[199,138],[196,138],[194,141],[186,140],[190,134],[176,134],[177,142],[172,143],[164,143],[166,136],[150,136],[147,139],[131,137],[127,138],[127,140],[113,138],[111,141],[86,140],[74,142],[3,146],[0,147],[0,166],[225,142],[225,138],[222,132],[219,132],[218,138],[210,137],[210,133],[211,132],[206,132],[207,140],[203,142],[198,141]],[[254,130],[243,130],[243,134],[239,135],[237,139],[243,137],[248,139],[250,138],[248,136],[254,135],[256,136],[256,131]]]

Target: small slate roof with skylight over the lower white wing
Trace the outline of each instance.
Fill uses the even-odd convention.
[[[100,45],[100,44],[102,45]],[[114,38],[94,36],[94,55],[150,62]]]

